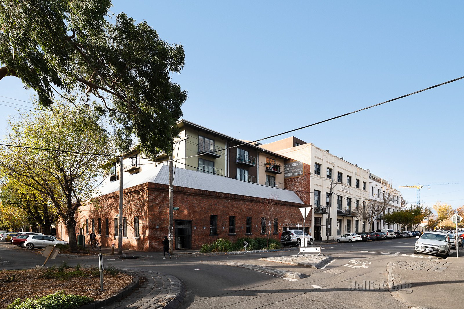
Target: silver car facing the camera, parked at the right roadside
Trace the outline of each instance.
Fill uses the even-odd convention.
[[[451,243],[450,237],[447,234],[439,232],[425,232],[414,245],[414,253],[418,252],[435,254],[441,257],[446,257],[450,253]]]

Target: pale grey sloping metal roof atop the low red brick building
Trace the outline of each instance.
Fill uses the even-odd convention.
[[[138,174],[123,178],[124,189],[142,183],[161,183],[168,185],[169,166],[160,164],[154,169],[141,171]],[[295,192],[290,190],[248,183],[224,176],[211,175],[181,168],[175,169],[174,186],[261,198],[275,198],[279,201],[303,204]],[[98,189],[101,195],[116,192],[119,191],[119,182],[115,181],[101,186]]]

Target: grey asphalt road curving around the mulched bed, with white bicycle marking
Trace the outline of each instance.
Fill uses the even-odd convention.
[[[361,243],[324,244],[322,252],[335,258],[323,269],[283,265],[259,260],[262,257],[292,255],[296,251],[268,252],[250,255],[217,255],[193,257],[191,254],[174,255],[162,259],[161,252],[149,258],[120,260],[105,256],[105,265],[138,270],[169,273],[183,281],[187,295],[179,308],[406,308],[388,290],[382,289],[387,281],[387,263],[402,258],[417,260],[439,259],[428,255],[414,255],[415,238],[368,241]],[[34,252],[34,251],[33,251]],[[42,264],[40,255],[26,249],[0,244],[2,268],[33,267]],[[36,251],[37,252],[37,251]],[[452,254],[456,254],[453,250]],[[58,256],[50,264],[69,261],[70,265],[96,265],[96,257],[69,258]],[[441,260],[441,259],[440,259]],[[8,264],[5,262],[8,261]],[[234,261],[244,264],[265,265],[297,271],[308,275],[303,279],[276,277],[264,272],[226,265]],[[357,261],[356,263],[352,261]],[[367,262],[367,263],[365,263]],[[370,262],[370,264],[369,264]],[[369,289],[371,285],[379,290]],[[369,285],[364,287],[364,285]],[[357,287],[353,290],[351,287]]]

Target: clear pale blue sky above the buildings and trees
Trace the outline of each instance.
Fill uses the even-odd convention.
[[[247,140],[464,76],[460,1],[114,1],[186,65],[184,118]],[[329,149],[427,205],[464,204],[464,80],[284,135]],[[14,77],[0,95],[28,100]],[[18,101],[1,98],[2,101]],[[0,102],[10,105],[10,103]],[[1,106],[4,132],[12,107]],[[276,140],[266,140],[264,142]],[[430,185],[430,187],[429,187]],[[429,189],[430,188],[430,189]],[[415,203],[416,189],[401,189]]]

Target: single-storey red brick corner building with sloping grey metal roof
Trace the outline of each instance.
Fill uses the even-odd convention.
[[[265,237],[262,225],[269,221],[272,237],[278,239],[278,233],[303,223],[298,208],[307,205],[293,191],[185,169],[174,175],[174,249],[200,249],[219,237]],[[158,165],[124,178],[124,250],[162,250],[168,234],[168,177],[168,166]],[[101,193],[80,208],[77,230],[86,239],[94,230],[102,246],[117,246],[119,182],[107,184]],[[262,199],[270,197],[280,208],[277,221],[262,220]],[[63,232],[64,227],[57,228],[58,236],[67,239]]]

